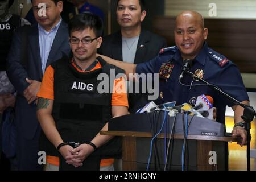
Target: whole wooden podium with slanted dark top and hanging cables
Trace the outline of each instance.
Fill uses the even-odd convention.
[[[184,143],[183,116],[178,113],[175,117],[169,117],[163,111],[123,115],[122,117],[111,119],[109,121],[109,131],[101,131],[101,134],[122,137],[123,170],[141,171],[147,169],[152,132],[161,131],[155,142],[154,157],[151,156],[150,158],[150,169],[162,170],[166,165],[164,150],[167,150],[167,140],[170,138],[169,133],[171,131],[167,130],[172,127],[174,140],[168,154],[168,169],[180,170],[182,167],[183,155],[181,154]],[[191,115],[187,115],[187,117],[187,122],[189,123],[187,137],[188,155],[186,158],[188,169],[227,169],[228,144],[226,142],[236,142],[236,139],[222,137],[225,133],[225,125],[222,123]],[[167,130],[164,130],[163,126]],[[164,136],[164,133],[166,133],[166,136]],[[209,159],[212,156],[212,154],[209,155],[210,151],[216,152],[217,165],[209,164]]]

